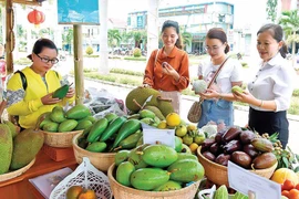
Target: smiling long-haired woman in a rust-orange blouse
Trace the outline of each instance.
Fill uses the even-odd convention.
[[[152,52],[143,84],[172,98],[174,111],[179,113],[181,91],[189,85],[188,54],[182,50],[178,23],[167,20],[162,25],[161,39],[164,46]]]

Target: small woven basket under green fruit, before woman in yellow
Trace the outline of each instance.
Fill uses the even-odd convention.
[[[51,147],[59,147],[59,148],[72,147],[73,137],[82,132],[83,130],[64,132],[64,133],[43,132],[44,144]]]

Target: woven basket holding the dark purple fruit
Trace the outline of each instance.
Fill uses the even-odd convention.
[[[197,148],[197,157],[198,157],[199,163],[205,168],[205,176],[207,177],[207,179],[209,179],[216,185],[226,185],[227,187],[229,187],[227,167],[218,165],[205,158],[202,155],[200,146]],[[267,169],[256,169],[256,170],[249,170],[249,171],[269,179],[272,176],[276,167],[277,167],[277,164],[275,164],[272,167],[267,168]]]

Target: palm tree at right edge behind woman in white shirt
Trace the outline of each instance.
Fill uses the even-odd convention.
[[[290,10],[290,11],[283,11],[281,13],[281,17],[278,21],[279,24],[281,24],[286,36],[287,36],[287,43],[291,43],[291,54],[292,54],[292,64],[295,66],[296,57],[295,57],[295,50],[296,50],[296,43],[299,43],[299,15],[298,10]]]

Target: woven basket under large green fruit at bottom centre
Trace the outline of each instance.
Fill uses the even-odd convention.
[[[107,176],[115,199],[194,199],[200,182],[196,181],[188,187],[173,191],[144,191],[118,184],[114,178],[114,164],[109,168]]]

